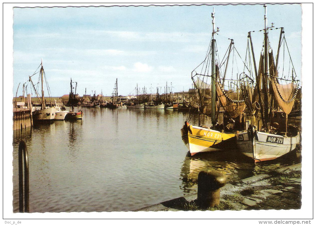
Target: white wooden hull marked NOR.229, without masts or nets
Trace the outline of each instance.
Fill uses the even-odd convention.
[[[295,137],[255,132],[252,140],[248,132],[237,134],[237,147],[240,152],[254,162],[276,159],[294,150],[300,142],[300,133]]]

